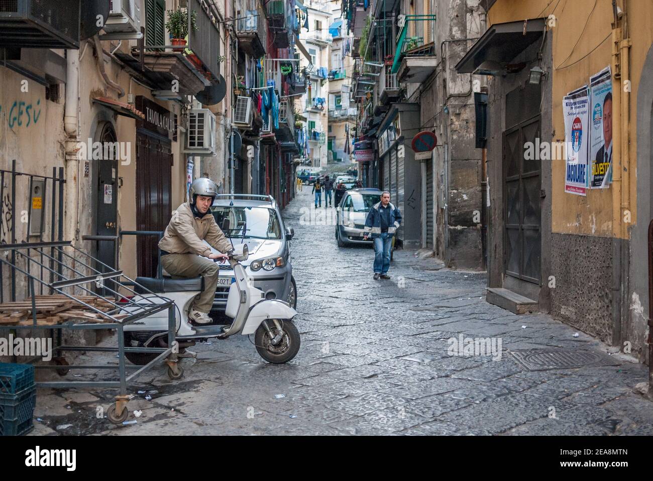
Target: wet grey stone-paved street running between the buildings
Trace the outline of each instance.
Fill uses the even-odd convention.
[[[305,186],[284,212],[295,228],[295,360],[266,364],[245,336],[197,345],[180,382],[162,366],[133,386],[129,409],[142,414],[131,426],[96,418],[111,390],[39,390],[33,435],[653,435],[653,403],[635,390],[645,365],[548,315],[486,303],[485,273],[396,251],[392,279],[374,281],[372,249],[337,247],[314,210]],[[460,334],[500,350],[452,356],[447,340]],[[596,362],[531,371],[512,354],[536,348],[589,350]]]

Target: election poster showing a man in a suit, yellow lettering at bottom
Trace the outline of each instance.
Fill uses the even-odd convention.
[[[613,99],[612,74],[606,67],[590,77],[590,161],[592,189],[608,189],[612,182],[613,159]]]

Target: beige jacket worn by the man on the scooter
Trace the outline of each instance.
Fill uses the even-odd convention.
[[[220,252],[231,251],[231,242],[215,223],[211,211],[198,219],[193,215],[190,204],[184,202],[172,211],[172,219],[159,241],[159,249],[170,254],[192,253],[208,257],[211,249],[203,240]]]

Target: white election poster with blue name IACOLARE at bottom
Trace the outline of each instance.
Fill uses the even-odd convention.
[[[589,89],[587,85],[562,99],[565,117],[565,192],[586,195],[588,187]]]

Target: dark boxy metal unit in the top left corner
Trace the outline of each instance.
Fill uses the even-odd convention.
[[[80,48],[80,0],[0,0],[0,47]]]

